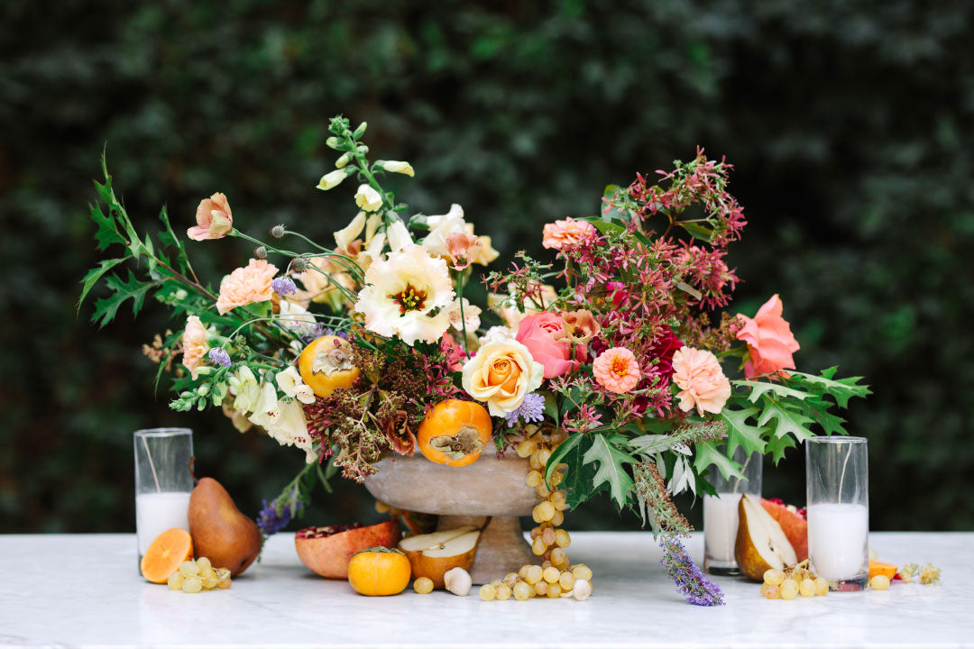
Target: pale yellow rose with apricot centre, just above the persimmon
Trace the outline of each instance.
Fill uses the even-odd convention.
[[[543,380],[544,366],[517,341],[489,341],[464,363],[464,389],[477,401],[486,402],[494,416],[516,410],[525,395],[541,387]]]

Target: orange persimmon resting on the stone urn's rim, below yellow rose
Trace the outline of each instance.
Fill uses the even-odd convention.
[[[494,425],[478,403],[447,399],[432,407],[420,424],[418,442],[427,459],[447,466],[472,464],[490,442]]]

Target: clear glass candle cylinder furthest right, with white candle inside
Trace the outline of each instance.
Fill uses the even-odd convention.
[[[869,582],[869,467],[866,439],[805,441],[808,559],[833,591]]]

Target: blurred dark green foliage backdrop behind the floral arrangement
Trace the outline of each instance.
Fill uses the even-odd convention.
[[[594,213],[609,183],[698,144],[726,155],[750,222],[736,310],[779,292],[800,366],[841,363],[876,392],[849,414],[874,528],[970,529],[972,22],[949,0],[2,3],[0,531],[132,529],[139,427],[191,426],[198,475],[250,514],[299,467],[153,394],[140,345],[181,326],[162,306],[98,331],[75,302],[102,147],[146,228],[163,203],[187,227],[221,191],[246,231],[327,239],[354,213],[314,189],[338,112],[414,163],[401,198],[462,203],[501,262],[546,258],[543,223]],[[197,268],[218,282],[237,243],[190,243]],[[766,467],[766,495],[801,504],[804,485],[801,452]],[[370,505],[339,481],[306,521],[374,520]],[[605,500],[568,523],[635,525]]]

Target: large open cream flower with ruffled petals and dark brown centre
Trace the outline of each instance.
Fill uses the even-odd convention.
[[[369,331],[411,345],[436,343],[450,327],[446,309],[455,295],[450,272],[423,246],[413,243],[374,262],[365,271],[365,283],[356,311],[365,316]]]

